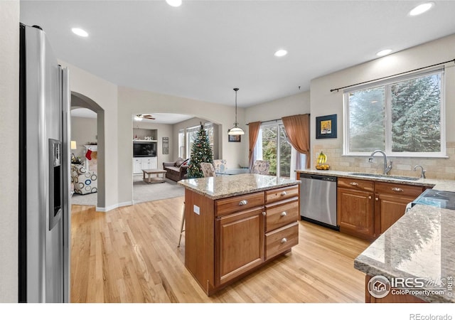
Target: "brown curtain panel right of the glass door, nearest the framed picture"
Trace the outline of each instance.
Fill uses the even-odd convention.
[[[284,129],[291,146],[301,154],[306,154],[305,168],[310,167],[310,115],[297,114],[290,117],[282,117]],[[250,144],[251,145],[251,144]]]

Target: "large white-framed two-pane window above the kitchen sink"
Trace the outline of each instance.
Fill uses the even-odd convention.
[[[444,69],[350,88],[344,97],[344,154],[446,156]]]

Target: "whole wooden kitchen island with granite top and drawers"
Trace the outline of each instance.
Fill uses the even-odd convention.
[[[259,174],[191,178],[185,266],[213,294],[299,243],[300,181]]]

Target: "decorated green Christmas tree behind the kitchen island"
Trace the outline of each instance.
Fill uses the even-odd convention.
[[[213,163],[213,151],[203,124],[200,124],[200,129],[196,132],[196,139],[193,142],[193,146],[191,146],[188,178],[203,178],[204,174],[200,169],[201,162]]]

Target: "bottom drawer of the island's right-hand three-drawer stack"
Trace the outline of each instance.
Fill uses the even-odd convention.
[[[279,255],[299,244],[299,222],[265,234],[265,259]]]

